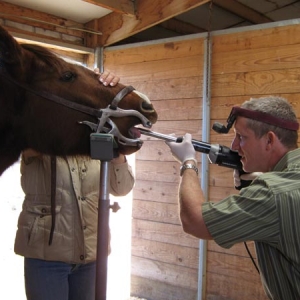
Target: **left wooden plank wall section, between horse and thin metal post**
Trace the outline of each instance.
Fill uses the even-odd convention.
[[[154,131],[192,131],[200,139],[202,57],[203,40],[197,39],[106,51],[104,66],[149,96],[159,114]],[[145,138],[136,178],[131,292],[147,299],[195,299],[199,241],[181,229],[179,164],[163,141]]]

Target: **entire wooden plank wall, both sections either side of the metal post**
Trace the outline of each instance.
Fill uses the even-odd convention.
[[[233,105],[270,94],[287,97],[300,116],[300,26],[273,26],[212,35],[211,124],[224,123]],[[201,35],[107,48],[104,66],[150,97],[159,114],[154,131],[201,139],[204,48]],[[227,146],[232,137],[210,133],[212,143]],[[144,139],[136,155],[131,292],[149,300],[194,300],[199,241],[183,233],[178,219],[179,164],[163,141]],[[230,193],[237,193],[232,170],[211,165],[209,201]],[[248,246],[255,257],[253,243]],[[208,242],[204,279],[203,299],[267,299],[243,244],[226,250]]]

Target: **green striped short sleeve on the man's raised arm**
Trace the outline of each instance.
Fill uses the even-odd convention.
[[[274,195],[263,182],[241,190],[218,203],[202,205],[204,222],[221,247],[230,248],[245,241],[274,245],[279,239],[279,218]]]

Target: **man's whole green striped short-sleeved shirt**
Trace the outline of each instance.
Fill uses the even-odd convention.
[[[204,203],[203,218],[221,247],[255,242],[270,299],[300,299],[300,149],[288,152],[239,195]]]

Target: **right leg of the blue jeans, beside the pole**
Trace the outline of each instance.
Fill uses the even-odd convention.
[[[96,262],[76,265],[69,276],[69,300],[95,300]]]

